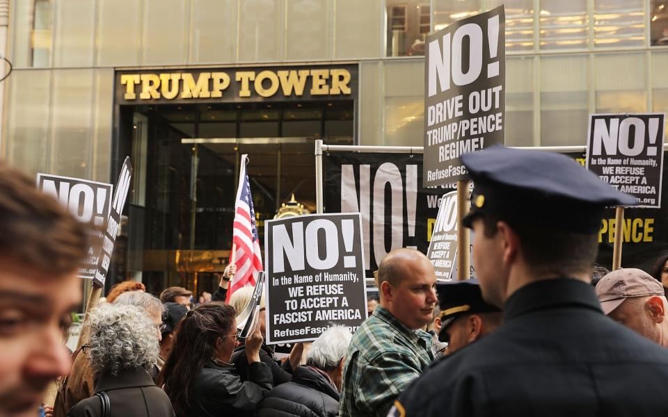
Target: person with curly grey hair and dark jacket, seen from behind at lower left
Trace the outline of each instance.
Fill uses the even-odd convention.
[[[174,416],[169,398],[149,373],[159,353],[159,329],[148,313],[137,306],[104,304],[91,312],[89,325],[95,395],[67,416]]]

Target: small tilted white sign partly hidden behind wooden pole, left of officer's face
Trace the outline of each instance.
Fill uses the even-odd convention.
[[[427,258],[434,265],[436,279],[452,281],[457,254],[457,192],[452,191],[440,200],[436,224],[431,234]]]

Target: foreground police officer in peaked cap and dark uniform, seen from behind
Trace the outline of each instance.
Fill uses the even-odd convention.
[[[473,263],[504,324],[429,368],[390,414],[668,415],[668,351],[606,318],[589,285],[603,208],[635,198],[559,154],[461,160],[475,183]]]

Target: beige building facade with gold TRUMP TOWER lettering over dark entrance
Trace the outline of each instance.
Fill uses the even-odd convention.
[[[262,224],[315,206],[315,139],[421,146],[425,35],[501,3],[507,145],[668,111],[668,0],[10,0],[0,155],[106,182],[131,156],[111,282],[209,291],[240,154]]]

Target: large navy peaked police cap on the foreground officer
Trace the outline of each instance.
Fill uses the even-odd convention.
[[[536,224],[596,233],[606,206],[635,206],[637,199],[601,181],[561,154],[494,146],[461,156],[474,183],[463,224],[488,213],[508,224]]]

